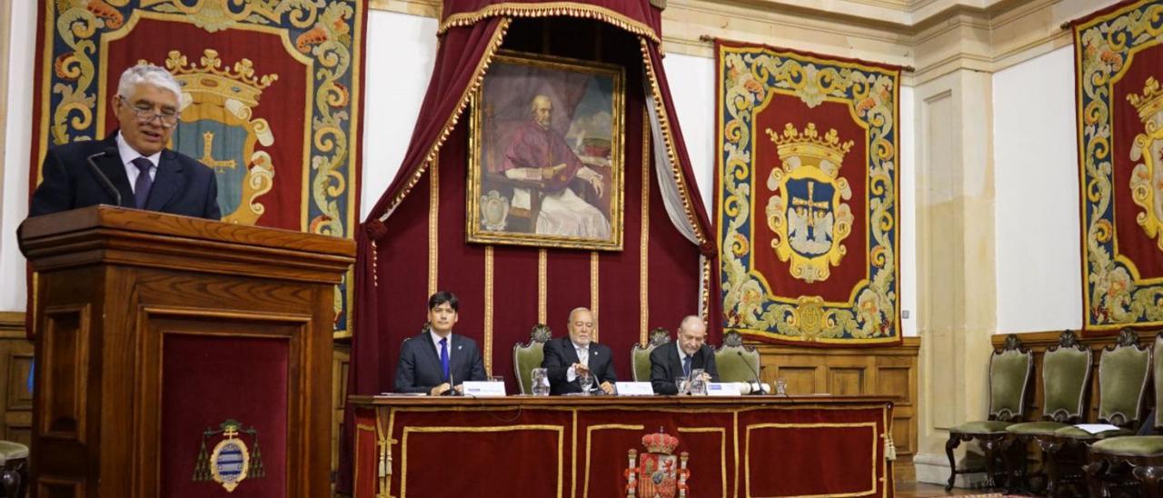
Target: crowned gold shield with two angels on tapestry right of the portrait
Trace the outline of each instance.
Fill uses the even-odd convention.
[[[765,213],[776,234],[771,248],[779,261],[791,261],[792,277],[827,280],[847,252],[841,242],[852,233],[852,211],[844,202],[852,191],[840,168],[854,142],[841,143],[834,129],[821,137],[815,123],[804,131],[787,123],[782,134],[770,128],[766,134],[782,163],[768,176],[775,192]]]

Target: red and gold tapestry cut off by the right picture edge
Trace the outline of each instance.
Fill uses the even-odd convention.
[[[1083,327],[1163,326],[1163,1],[1072,24]]]

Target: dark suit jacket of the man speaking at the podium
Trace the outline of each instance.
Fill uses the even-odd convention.
[[[44,180],[33,193],[29,216],[76,209],[97,204],[116,205],[113,194],[88,165],[95,157],[98,169],[109,178],[121,193],[122,207],[136,207],[134,191],[126,176],[126,166],[117,152],[116,131],[102,141],[72,142],[53,147],[44,156],[41,168]],[[214,170],[173,150],[162,151],[154,176],[154,186],[145,201],[145,209],[186,216],[217,220],[217,180]]]

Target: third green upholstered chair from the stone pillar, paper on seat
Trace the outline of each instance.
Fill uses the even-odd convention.
[[[1083,464],[1090,444],[1107,437],[1132,435],[1142,419],[1143,398],[1150,378],[1151,351],[1139,344],[1139,334],[1125,328],[1114,343],[1103,349],[1098,360],[1098,422],[1118,428],[1092,434],[1075,426],[1063,427],[1053,436],[1037,436],[1046,455],[1047,495],[1057,496],[1063,486],[1084,496]]]

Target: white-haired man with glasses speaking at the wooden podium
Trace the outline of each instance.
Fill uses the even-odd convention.
[[[110,109],[120,129],[101,141],[49,149],[30,216],[97,204],[217,220],[214,171],[165,148],[178,126],[181,87],[166,70],[129,67]]]

